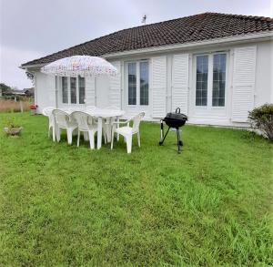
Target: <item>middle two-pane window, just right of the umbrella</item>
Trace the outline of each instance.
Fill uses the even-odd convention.
[[[127,63],[128,105],[149,104],[149,64],[147,60]]]

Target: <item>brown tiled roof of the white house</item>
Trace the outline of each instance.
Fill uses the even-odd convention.
[[[66,56],[102,56],[133,49],[184,44],[272,30],[273,18],[270,17],[219,13],[190,15],[147,26],[121,30],[52,55],[29,61],[22,66],[46,64]]]

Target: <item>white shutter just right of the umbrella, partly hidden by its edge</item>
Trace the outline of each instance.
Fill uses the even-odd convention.
[[[121,108],[121,64],[120,61],[111,62],[116,67],[117,75],[110,77],[109,105]]]

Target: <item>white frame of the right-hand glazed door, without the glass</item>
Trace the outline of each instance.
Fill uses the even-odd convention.
[[[225,105],[224,106],[212,106],[213,96],[213,58],[214,55],[225,54],[226,55],[226,77],[225,77]],[[197,106],[197,56],[208,56],[208,68],[207,68],[207,106]],[[228,88],[228,65],[229,65],[229,53],[228,51],[216,51],[207,52],[194,55],[194,106],[197,109],[225,109],[227,108],[227,88]]]

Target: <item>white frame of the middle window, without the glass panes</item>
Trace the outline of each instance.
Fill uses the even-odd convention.
[[[148,70],[148,104],[147,105],[140,105],[140,63],[142,62],[147,62],[147,70]],[[128,99],[128,65],[131,63],[136,63],[136,105],[129,105],[129,99]],[[146,108],[149,107],[151,104],[151,79],[150,79],[150,60],[145,58],[145,59],[136,59],[136,60],[130,60],[125,62],[125,81],[126,81],[126,94],[125,94],[125,103],[126,107],[128,108]]]

